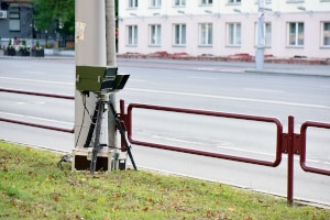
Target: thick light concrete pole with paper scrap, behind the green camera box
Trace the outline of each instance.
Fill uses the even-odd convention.
[[[105,1],[76,0],[75,7],[76,66],[106,66]],[[88,112],[92,114],[96,108],[97,96],[92,92],[89,92],[89,96],[82,97],[81,94],[76,89],[75,147],[84,147],[88,135],[88,130],[91,124],[90,116],[88,116],[88,112],[85,111],[84,102],[86,103]],[[85,116],[84,120],[82,116]]]

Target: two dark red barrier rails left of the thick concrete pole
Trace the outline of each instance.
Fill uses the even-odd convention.
[[[51,97],[51,98],[57,98],[57,99],[72,99],[72,100],[75,99],[75,97],[73,97],[73,96],[42,94],[42,92],[35,92],[35,91],[22,91],[22,90],[14,90],[14,89],[0,88],[0,91],[10,92],[10,94],[30,95],[30,96]],[[28,127],[35,127],[35,128],[41,128],[41,129],[47,129],[47,130],[53,130],[53,131],[74,133],[74,129],[63,129],[63,128],[50,127],[50,125],[45,125],[45,124],[37,124],[37,123],[31,123],[31,122],[24,122],[24,121],[18,121],[18,120],[4,119],[4,118],[0,118],[0,121],[22,124],[22,125],[28,125]]]

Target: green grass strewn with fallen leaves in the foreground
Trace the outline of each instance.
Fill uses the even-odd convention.
[[[329,209],[148,172],[57,168],[61,155],[0,141],[2,219],[330,219]]]

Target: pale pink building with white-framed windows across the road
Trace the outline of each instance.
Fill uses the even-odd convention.
[[[330,57],[330,0],[264,0],[265,55]],[[255,55],[257,0],[120,0],[119,54]]]

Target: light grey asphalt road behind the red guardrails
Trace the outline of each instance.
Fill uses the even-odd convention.
[[[0,59],[0,87],[74,95],[74,59]],[[131,74],[118,99],[131,102],[275,117],[295,131],[307,120],[330,122],[330,77],[244,72],[244,66],[191,63],[128,63]],[[251,67],[248,67],[251,68]],[[275,67],[273,67],[275,68]],[[299,67],[301,68],[301,67]],[[72,129],[74,102],[0,94],[0,117]],[[208,117],[134,110],[133,136],[144,141],[201,148],[262,160],[274,160],[273,124]],[[72,151],[73,135],[0,122],[0,139]],[[330,131],[311,130],[308,163],[330,169]],[[263,167],[143,146],[133,146],[140,167],[228,183],[244,188],[286,195],[286,156],[276,167]],[[296,157],[298,162],[298,157]],[[330,178],[301,172],[295,163],[295,198],[330,205]]]

